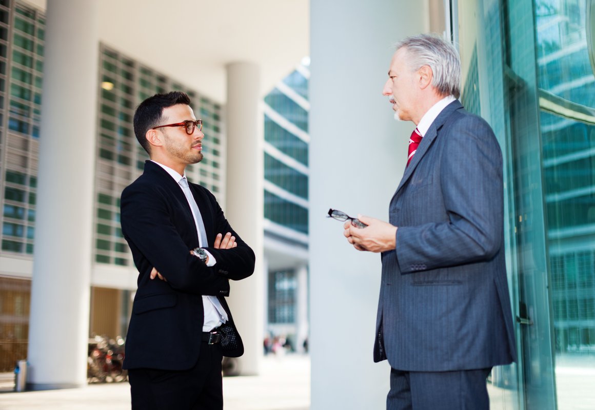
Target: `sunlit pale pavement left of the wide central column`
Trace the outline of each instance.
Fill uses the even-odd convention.
[[[90,384],[82,389],[6,392],[14,378],[0,378],[2,410],[128,410],[128,383]],[[302,355],[267,356],[260,376],[224,377],[226,410],[308,410],[310,360]]]

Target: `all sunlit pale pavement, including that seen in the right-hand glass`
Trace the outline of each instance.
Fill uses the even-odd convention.
[[[595,409],[595,358],[558,358],[559,410]],[[12,393],[12,374],[0,375],[1,410],[130,409],[128,383],[91,384],[82,389]],[[268,356],[260,376],[224,377],[226,410],[308,410],[310,360],[307,356]],[[2,391],[4,390],[4,391]],[[488,384],[491,408],[516,408],[516,394]]]

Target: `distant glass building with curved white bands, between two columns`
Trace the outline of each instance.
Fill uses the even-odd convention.
[[[308,81],[299,65],[264,98],[265,336],[298,350],[308,336]]]

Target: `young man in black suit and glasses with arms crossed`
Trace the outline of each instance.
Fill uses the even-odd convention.
[[[254,253],[214,195],[186,179],[205,137],[186,94],[140,103],[134,134],[151,160],[121,197],[139,270],[124,358],[132,408],[220,410],[221,359],[243,354],[224,297],[230,279],[252,275]]]

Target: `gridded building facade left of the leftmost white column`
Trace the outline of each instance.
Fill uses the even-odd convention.
[[[32,260],[45,17],[0,1],[0,258]],[[30,280],[0,272],[0,371],[27,355]]]

